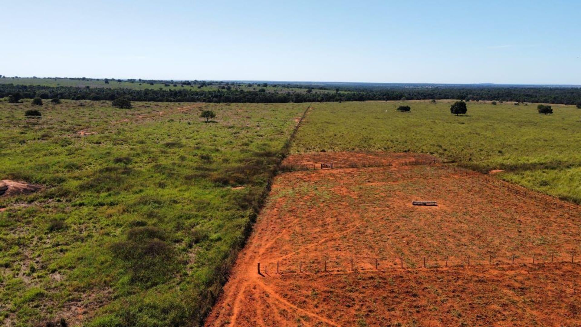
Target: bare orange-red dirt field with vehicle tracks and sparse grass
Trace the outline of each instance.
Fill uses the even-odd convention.
[[[206,326],[579,326],[580,221],[443,164],[283,173]]]

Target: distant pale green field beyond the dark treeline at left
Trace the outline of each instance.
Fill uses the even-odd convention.
[[[6,77],[0,78],[0,84],[15,84],[15,85],[34,85],[34,86],[49,86],[49,87],[57,87],[57,86],[69,86],[69,87],[103,87],[103,88],[128,88],[130,90],[146,90],[152,89],[157,90],[162,88],[163,90],[174,90],[179,88],[187,88],[194,91],[215,91],[220,90],[222,87],[227,87],[225,85],[206,85],[198,88],[200,84],[192,84],[191,86],[188,85],[181,85],[180,82],[176,81],[175,83],[171,83],[171,81],[167,81],[167,83],[153,83],[153,85],[146,83],[145,81],[127,81],[127,80],[109,80],[109,83],[105,83],[104,79],[96,80],[96,79],[44,79],[44,78],[33,78],[33,77]],[[168,86],[166,86],[168,84]],[[175,84],[175,86],[174,86]],[[232,83],[233,84],[233,83]],[[241,86],[237,86],[241,84]],[[299,88],[299,87],[282,87],[282,86],[273,86],[273,84],[269,84],[266,87],[257,85],[253,83],[252,87],[248,86],[248,83],[236,83],[236,85],[230,86],[232,90],[244,90],[244,91],[257,91],[261,88],[264,88],[266,92],[275,92],[275,93],[286,93],[286,92],[297,92],[297,93],[305,93],[307,88]],[[313,90],[313,92],[320,92],[320,93],[334,93],[335,90]]]

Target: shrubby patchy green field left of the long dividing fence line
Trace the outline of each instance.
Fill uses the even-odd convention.
[[[0,325],[195,324],[306,109],[133,105],[0,102]]]

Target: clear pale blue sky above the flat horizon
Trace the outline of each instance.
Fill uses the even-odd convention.
[[[581,84],[581,0],[1,1],[0,74]]]

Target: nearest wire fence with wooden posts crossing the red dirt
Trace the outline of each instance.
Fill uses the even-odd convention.
[[[541,265],[541,264],[579,264],[575,252],[545,253],[510,256],[464,255],[439,257],[377,257],[355,259],[311,259],[308,261],[257,262],[256,273],[261,276],[272,275],[317,275],[361,272],[386,272],[395,269],[449,269],[485,266]]]

